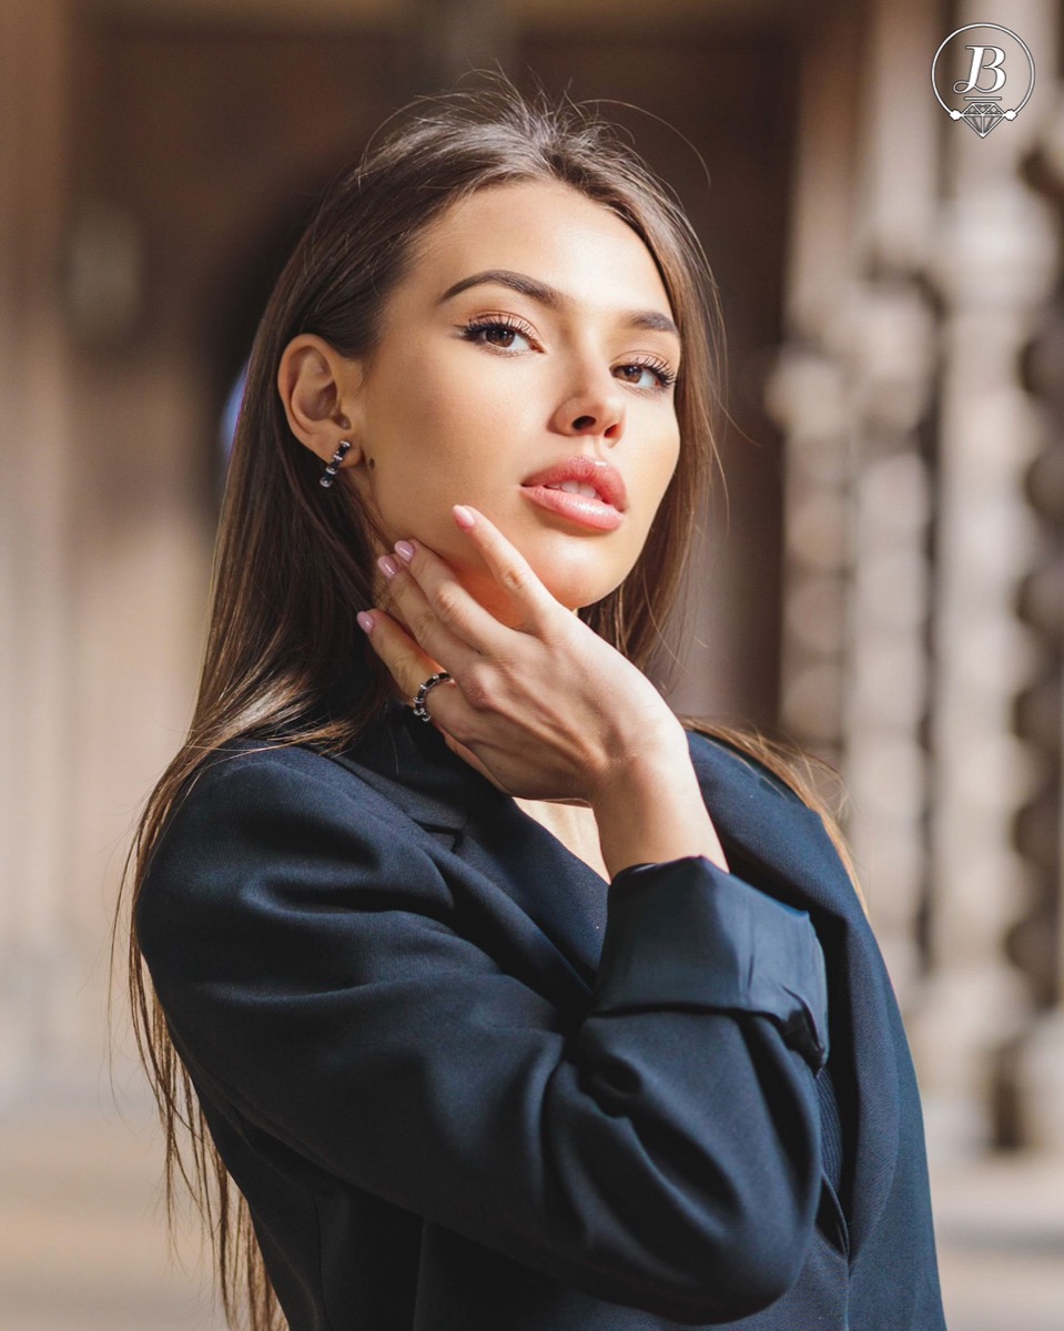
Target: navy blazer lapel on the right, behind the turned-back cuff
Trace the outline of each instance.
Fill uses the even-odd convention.
[[[898,1162],[898,1063],[894,990],[860,901],[823,820],[752,763],[714,741],[691,739],[691,753],[724,853],[755,886],[808,910],[832,958],[832,1067],[855,1093],[850,1206],[851,1259],[887,1201]],[[842,1009],[842,1010],[840,1010]]]

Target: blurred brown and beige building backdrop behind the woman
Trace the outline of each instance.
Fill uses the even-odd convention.
[[[605,98],[700,232],[727,494],[672,697],[840,771],[952,1331],[1064,1328],[1061,17],[0,0],[4,1331],[220,1326],[194,1243],[168,1258],[121,997],[108,1062],[117,884],[190,715],[221,441],[270,284],[381,121],[485,67]],[[930,81],[981,21],[1037,64],[985,137]]]

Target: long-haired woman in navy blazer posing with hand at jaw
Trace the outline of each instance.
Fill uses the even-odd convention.
[[[422,108],[278,282],[131,958],[233,1322],[943,1326],[836,845],[643,673],[707,291],[630,152],[510,93]]]

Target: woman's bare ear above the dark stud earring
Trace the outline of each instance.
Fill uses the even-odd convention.
[[[353,445],[345,466],[360,461],[356,419],[360,381],[358,362],[342,357],[312,333],[293,338],[281,355],[277,390],[289,429],[322,462],[333,457],[341,439]]]

